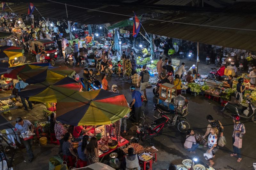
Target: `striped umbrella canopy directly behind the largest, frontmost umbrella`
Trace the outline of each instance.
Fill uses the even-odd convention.
[[[34,85],[27,85],[19,95],[30,101],[54,102],[64,99],[71,94],[81,91],[82,86],[69,77],[55,81],[44,81]]]

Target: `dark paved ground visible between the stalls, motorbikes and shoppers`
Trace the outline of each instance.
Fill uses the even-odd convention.
[[[207,74],[210,68],[214,67],[213,64],[205,65],[205,59],[200,59],[199,72],[200,74]],[[63,60],[57,60],[57,65],[63,65]],[[186,66],[192,66],[192,64],[196,64],[196,60],[188,61],[186,58],[181,60],[181,62],[185,62]],[[70,67],[70,66],[69,66]],[[80,76],[82,76],[83,68],[81,67],[72,67]],[[100,77],[99,77],[100,78]],[[124,94],[127,98],[127,101],[130,102],[132,100],[131,92],[129,87],[132,85],[131,81],[124,79],[123,77],[119,78],[116,75],[113,75],[111,78],[107,78],[108,84],[110,87],[112,84],[116,84],[118,86],[118,90],[120,93]],[[157,102],[157,99],[154,97],[152,93],[153,86],[147,89],[148,102],[143,103],[142,110],[146,115],[147,122],[151,122],[155,120],[152,116],[154,114],[153,104]],[[139,90],[139,88],[137,88]],[[0,92],[0,97],[4,97],[8,95],[8,92]],[[185,97],[190,99],[190,103],[188,104],[189,114],[186,116],[191,125],[191,129],[195,129],[195,133],[200,133],[204,135],[205,128],[207,127],[206,115],[210,114],[213,116],[215,120],[220,120],[220,122],[225,125],[224,136],[227,140],[227,145],[220,148],[218,152],[216,152],[216,157],[214,158],[214,168],[215,169],[229,169],[228,166],[235,168],[236,170],[247,170],[252,169],[248,166],[252,166],[252,163],[256,161],[255,150],[255,142],[254,139],[256,134],[253,133],[252,129],[255,129],[256,124],[252,122],[246,122],[246,120],[242,120],[241,122],[246,122],[246,134],[243,138],[243,148],[242,157],[243,160],[240,163],[236,162],[236,158],[230,157],[229,154],[232,151],[232,132],[233,132],[233,122],[232,119],[226,119],[222,116],[220,103],[216,101],[212,101],[204,98],[204,96],[191,96],[186,94]],[[33,110],[24,111],[23,108],[11,110],[10,114],[5,115],[6,117],[12,116],[12,119],[15,119],[18,116],[21,116],[25,119],[34,122],[39,120],[40,122],[46,121],[44,117],[44,113],[42,109],[45,106],[42,103],[36,104]],[[136,127],[131,125],[131,121],[128,122],[129,128],[129,136],[124,136],[126,139],[130,139],[132,135],[136,133]],[[159,150],[157,153],[157,162],[153,163],[154,170],[164,170],[169,167],[170,163],[174,163],[176,165],[182,164],[183,159],[192,159],[195,154],[189,154],[183,148],[183,143],[185,141],[185,134],[182,134],[177,131],[174,127],[165,127],[164,132],[161,136],[155,137],[152,142],[155,143],[155,147]],[[143,146],[148,146],[148,142],[141,143]],[[254,148],[254,149],[253,149]],[[18,149],[15,154],[14,159],[14,169],[22,170],[31,169],[31,170],[39,170],[39,169],[47,169],[49,167],[49,157],[55,156],[58,154],[58,146],[53,144],[47,144],[46,146],[40,146],[38,141],[34,141],[33,150],[35,154],[35,159],[33,163],[28,162],[28,156],[25,149]],[[207,161],[203,157],[203,153],[205,153],[206,148],[198,149],[197,156],[198,161],[201,164],[206,163]]]

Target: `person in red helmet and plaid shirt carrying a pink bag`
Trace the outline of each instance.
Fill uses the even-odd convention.
[[[234,153],[231,153],[230,156],[237,156],[238,159],[236,162],[240,162],[242,160],[241,156],[241,150],[240,148],[242,147],[242,138],[243,135],[245,134],[245,126],[243,123],[240,123],[240,116],[234,115],[233,117],[233,122],[234,122],[234,131],[233,131],[233,150]],[[236,144],[235,144],[236,143]],[[235,144],[235,146],[234,146]],[[240,144],[240,147],[237,147]]]

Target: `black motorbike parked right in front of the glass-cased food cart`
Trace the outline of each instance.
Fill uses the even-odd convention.
[[[187,132],[190,125],[187,121],[187,118],[183,117],[181,115],[180,109],[178,107],[174,107],[174,111],[169,110],[167,107],[164,107],[160,104],[154,104],[154,110],[158,111],[158,114],[156,113],[154,115],[155,118],[160,119],[162,117],[168,118],[167,124],[169,126],[175,126],[180,132]]]

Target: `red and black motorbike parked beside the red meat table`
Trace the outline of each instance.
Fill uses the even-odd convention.
[[[139,143],[139,141],[149,140],[151,145],[151,138],[157,137],[162,134],[163,128],[166,122],[168,122],[167,116],[162,116],[151,123],[145,123],[145,115],[142,112],[143,117],[141,117],[142,121],[139,126],[137,126],[136,137],[131,139],[131,143]]]

